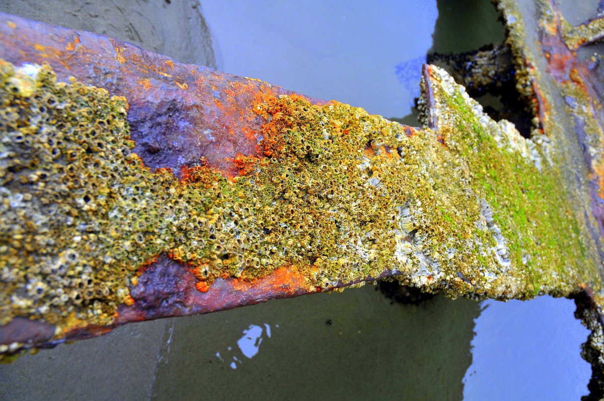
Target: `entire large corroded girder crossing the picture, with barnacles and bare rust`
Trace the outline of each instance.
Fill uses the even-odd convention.
[[[387,277],[600,305],[599,175],[518,43],[530,140],[434,66],[419,129],[0,15],[0,352]]]

